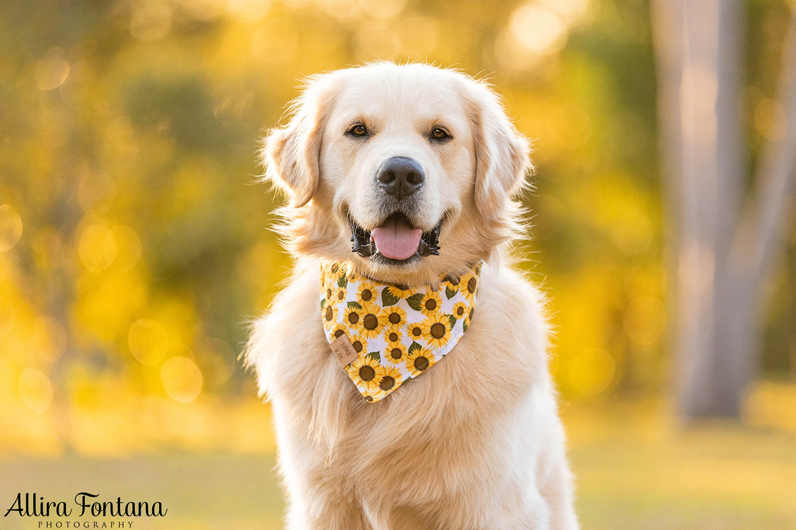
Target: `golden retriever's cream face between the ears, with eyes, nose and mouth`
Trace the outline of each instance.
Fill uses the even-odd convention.
[[[435,255],[443,220],[457,217],[472,191],[470,123],[456,93],[431,76],[357,74],[324,129],[323,184],[361,257],[409,267]]]

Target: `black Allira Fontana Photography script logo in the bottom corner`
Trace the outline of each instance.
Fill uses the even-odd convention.
[[[59,520],[40,520],[38,528],[133,528],[136,517],[162,517],[169,509],[160,501],[123,501],[100,499],[96,493],[76,493],[74,501],[50,501],[33,493],[17,493],[4,517],[40,517]],[[113,520],[84,520],[113,518]],[[67,520],[60,520],[67,519]]]

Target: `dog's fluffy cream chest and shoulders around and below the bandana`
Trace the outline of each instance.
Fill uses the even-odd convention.
[[[533,286],[486,265],[477,316],[451,353],[367,403],[324,337],[318,263],[299,263],[294,278],[256,322],[249,361],[274,409],[291,502],[314,505],[297,512],[345,499],[365,514],[362,528],[397,528],[396,517],[431,525],[414,528],[548,519],[541,495],[563,439]]]

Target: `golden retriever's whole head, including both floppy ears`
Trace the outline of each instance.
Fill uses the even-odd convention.
[[[290,197],[297,255],[414,285],[486,259],[516,232],[529,143],[484,83],[428,64],[314,76],[263,141]]]

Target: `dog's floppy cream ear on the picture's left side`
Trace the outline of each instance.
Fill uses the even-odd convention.
[[[318,158],[323,123],[331,106],[331,85],[328,75],[311,78],[291,103],[290,122],[271,129],[263,138],[260,151],[265,166],[263,180],[286,192],[295,208],[310,202],[318,189]]]

